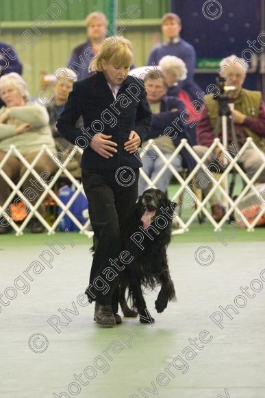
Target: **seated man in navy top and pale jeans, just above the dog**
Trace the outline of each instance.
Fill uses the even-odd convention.
[[[151,131],[147,139],[154,139],[157,148],[161,150],[166,159],[169,159],[181,139],[190,139],[188,132],[185,130],[186,127],[184,124],[178,124],[182,129],[181,132],[179,132],[173,125],[173,122],[177,117],[179,117],[179,114],[184,111],[185,106],[183,102],[177,100],[177,98],[166,96],[168,86],[162,73],[160,73],[160,75],[155,75],[152,71],[148,72],[144,76],[144,85],[147,91],[147,102],[149,102],[153,115]],[[170,134],[166,135],[165,129],[170,127],[173,128],[174,131],[171,130]],[[147,141],[142,144],[142,149],[144,149],[146,145]],[[157,176],[164,166],[164,161],[160,156],[158,156],[157,152],[155,152],[155,146],[152,145],[151,149],[147,150],[147,153],[142,157],[142,164],[143,171],[151,180],[154,180],[155,176]],[[194,167],[194,162],[188,152],[184,149],[175,156],[171,165],[175,167],[177,172],[179,172],[184,167],[192,169]],[[155,183],[155,186],[166,192],[172,175],[171,170],[167,168],[161,178],[157,183]],[[145,189],[147,189],[147,183],[140,176],[138,189],[139,195],[141,195]]]

